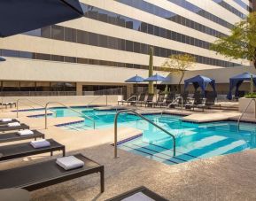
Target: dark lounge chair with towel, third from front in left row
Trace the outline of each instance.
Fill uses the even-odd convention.
[[[0,143],[8,143],[19,140],[44,138],[44,134],[38,130],[32,130],[33,135],[19,135],[17,132],[0,134]]]

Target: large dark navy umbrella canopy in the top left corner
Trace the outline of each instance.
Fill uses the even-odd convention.
[[[0,0],[0,37],[83,16],[78,0]]]

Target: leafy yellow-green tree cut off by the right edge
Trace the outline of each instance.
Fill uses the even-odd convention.
[[[229,58],[250,60],[256,68],[256,12],[238,22],[231,29],[231,35],[215,41],[211,50]]]

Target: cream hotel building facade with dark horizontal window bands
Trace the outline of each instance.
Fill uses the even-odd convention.
[[[220,90],[229,76],[253,71],[250,62],[209,50],[219,37],[252,11],[249,0],[81,0],[85,15],[0,39],[1,91],[90,91],[123,88],[136,74],[148,75],[148,50],[154,70],[168,56],[197,59],[186,77],[205,74]],[[171,75],[169,84],[177,84]]]

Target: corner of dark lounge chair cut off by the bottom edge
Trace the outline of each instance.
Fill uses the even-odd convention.
[[[129,190],[128,192],[122,193],[119,196],[106,199],[105,201],[121,201],[121,200],[156,200],[156,201],[167,201],[166,198],[159,196],[159,194],[145,188],[144,186],[136,189]]]

